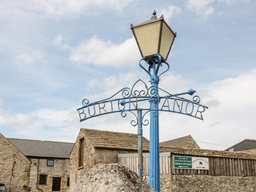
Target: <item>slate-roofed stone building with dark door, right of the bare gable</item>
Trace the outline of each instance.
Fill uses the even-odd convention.
[[[69,154],[74,143],[11,138],[8,140],[31,161],[31,191],[69,191]]]

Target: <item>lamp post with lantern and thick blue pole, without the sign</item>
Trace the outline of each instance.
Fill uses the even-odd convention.
[[[131,29],[143,60],[149,65],[148,71],[150,73],[148,74],[150,75],[150,83],[151,87],[153,87],[152,90],[155,92],[155,97],[150,99],[150,109],[152,110],[150,111],[149,185],[159,192],[159,116],[156,115],[159,103],[158,69],[160,67],[159,64],[167,60],[176,33],[167,25],[163,19],[163,15],[160,18],[157,18],[155,15],[156,12],[154,10],[150,20],[136,26],[131,24]]]

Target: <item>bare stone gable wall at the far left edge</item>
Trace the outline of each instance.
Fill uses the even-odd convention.
[[[1,133],[0,151],[0,182],[9,192],[27,192],[31,162]]]

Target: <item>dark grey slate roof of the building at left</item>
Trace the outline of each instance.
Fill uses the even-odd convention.
[[[26,157],[70,158],[74,143],[7,138]]]

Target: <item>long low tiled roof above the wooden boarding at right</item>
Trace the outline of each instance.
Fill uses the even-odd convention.
[[[241,153],[240,151],[230,152],[230,151],[217,151],[217,150],[209,150],[209,149],[191,149],[191,148],[160,146],[160,152],[172,152],[175,154],[202,155],[202,156],[212,156],[212,157],[256,159],[256,154]]]

